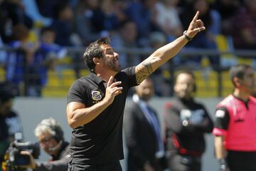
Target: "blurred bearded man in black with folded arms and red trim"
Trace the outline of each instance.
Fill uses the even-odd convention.
[[[165,104],[166,157],[171,171],[200,171],[204,134],[213,130],[206,108],[193,98],[195,90],[193,73],[181,71],[174,86],[176,97]]]

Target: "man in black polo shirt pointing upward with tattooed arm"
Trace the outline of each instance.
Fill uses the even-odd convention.
[[[75,81],[68,93],[68,124],[73,128],[69,170],[122,170],[122,123],[129,88],[142,83],[206,28],[196,13],[188,30],[137,66],[121,71],[108,38],[90,43],[84,61],[90,75]]]

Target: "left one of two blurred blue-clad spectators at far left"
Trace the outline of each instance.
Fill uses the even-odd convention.
[[[6,81],[16,85],[18,94],[24,91],[24,95],[34,95],[38,85],[38,76],[33,66],[34,56],[38,50],[39,43],[28,41],[29,30],[23,24],[14,27],[14,41],[9,46],[16,48],[10,51],[6,58]],[[24,89],[20,90],[21,83]]]

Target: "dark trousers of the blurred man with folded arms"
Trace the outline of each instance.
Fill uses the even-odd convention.
[[[201,171],[201,157],[171,155],[168,159],[171,171]]]

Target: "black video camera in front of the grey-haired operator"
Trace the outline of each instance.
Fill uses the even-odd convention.
[[[15,135],[14,142],[11,142],[6,155],[4,156],[4,165],[2,169],[5,171],[26,170],[22,166],[30,164],[30,156],[21,154],[21,151],[31,152],[31,155],[38,159],[40,155],[40,145],[38,142],[21,142],[21,135]]]

